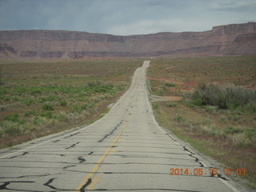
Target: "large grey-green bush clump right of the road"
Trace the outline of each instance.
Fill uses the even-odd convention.
[[[200,83],[198,89],[191,95],[194,105],[218,106],[219,109],[235,110],[246,108],[256,112],[255,90],[245,90],[234,84],[218,86],[217,84]]]

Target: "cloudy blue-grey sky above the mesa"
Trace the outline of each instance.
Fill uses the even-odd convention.
[[[0,0],[0,30],[206,31],[256,22],[256,0]]]

